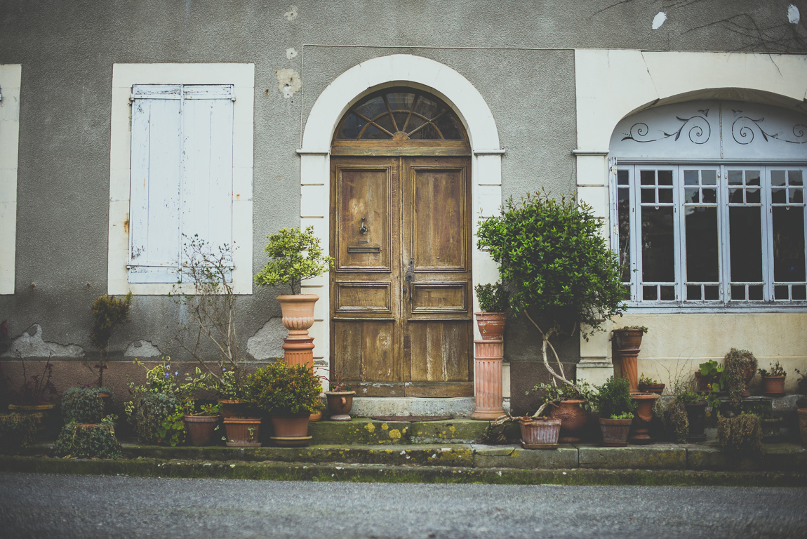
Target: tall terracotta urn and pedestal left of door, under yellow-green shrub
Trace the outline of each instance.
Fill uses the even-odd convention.
[[[283,358],[287,365],[307,365],[314,369],[314,338],[308,329],[314,325],[314,305],[320,296],[316,294],[278,295],[282,311],[283,327],[289,336],[283,339]],[[319,421],[322,412],[311,415],[310,420]]]

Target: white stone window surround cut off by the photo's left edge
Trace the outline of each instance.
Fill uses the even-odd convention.
[[[19,154],[19,64],[0,65],[0,294],[14,294]]]

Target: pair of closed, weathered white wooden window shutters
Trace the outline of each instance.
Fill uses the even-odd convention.
[[[177,282],[183,234],[232,247],[232,86],[132,86],[129,282]]]

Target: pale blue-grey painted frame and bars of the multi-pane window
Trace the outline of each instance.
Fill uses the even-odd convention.
[[[674,272],[675,272],[675,299],[670,301],[646,300],[642,299],[642,251],[639,236],[641,222],[641,185],[638,178],[639,171],[643,169],[672,169],[673,170],[673,242],[675,246]],[[719,296],[716,300],[688,300],[687,282],[684,282],[686,275],[686,238],[684,237],[684,207],[687,205],[684,198],[684,170],[685,169],[717,169],[717,241],[719,245],[718,255],[718,275]],[[738,286],[730,282],[730,238],[729,238],[729,207],[734,203],[729,202],[728,171],[729,170],[759,170],[760,172],[760,205],[764,215],[761,221],[762,234],[762,271],[763,271],[763,299],[752,301],[747,299],[734,299],[731,297],[731,286]],[[642,311],[807,311],[807,299],[775,299],[775,286],[784,286],[788,283],[774,282],[774,253],[773,253],[773,211],[775,205],[771,203],[771,170],[792,170],[800,169],[802,182],[807,184],[807,162],[728,162],[715,163],[713,161],[686,162],[686,161],[617,161],[617,158],[609,159],[609,178],[611,192],[611,245],[615,252],[619,249],[619,215],[618,215],[618,190],[625,189],[625,185],[617,185],[619,171],[627,170],[629,173],[629,208],[630,208],[630,282],[625,285],[630,290],[629,307],[642,309]],[[807,214],[807,202],[804,194],[807,194],[807,186],[802,188],[802,202],[789,204],[791,206],[805,207]],[[807,217],[807,215],[805,215]],[[807,242],[807,219],[805,219],[805,242]],[[805,249],[807,251],[807,249]],[[650,283],[652,284],[652,283]],[[792,283],[789,283],[792,284]],[[798,285],[805,285],[803,282]],[[792,295],[792,286],[788,286],[788,295]],[[658,296],[657,296],[658,297]]]

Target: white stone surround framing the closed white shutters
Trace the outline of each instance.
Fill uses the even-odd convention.
[[[132,174],[132,87],[219,85],[232,88],[232,285],[252,293],[253,64],[115,64],[112,70],[108,290],[163,295],[169,282],[128,282]]]

